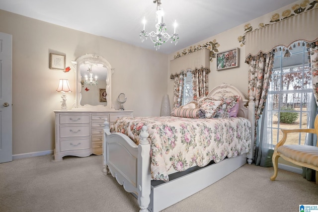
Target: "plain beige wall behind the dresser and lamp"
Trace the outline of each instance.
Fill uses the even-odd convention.
[[[123,42],[94,36],[0,10],[0,32],[12,35],[13,155],[54,148],[54,113],[61,108],[55,90],[60,78],[70,81],[71,109],[75,101],[75,72],[49,69],[49,53],[66,55],[66,66],[86,53],[105,58],[112,75],[112,102],[127,96],[125,108],[134,116],[159,116],[167,93],[168,56]],[[143,102],[141,105],[140,103]]]

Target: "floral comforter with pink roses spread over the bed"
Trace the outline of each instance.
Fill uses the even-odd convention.
[[[210,161],[235,157],[250,149],[250,122],[245,118],[189,119],[179,117],[125,117],[118,119],[110,131],[126,134],[139,143],[141,128],[148,127],[151,144],[151,175],[168,181],[173,167],[184,171]]]

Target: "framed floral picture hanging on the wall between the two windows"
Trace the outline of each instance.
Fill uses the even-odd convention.
[[[239,67],[239,48],[216,53],[217,70]]]

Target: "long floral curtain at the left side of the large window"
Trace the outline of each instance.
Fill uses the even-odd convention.
[[[248,64],[248,97],[254,99],[255,102],[254,136],[256,138],[258,136],[256,134],[258,120],[264,108],[273,68],[274,50],[267,54],[259,53],[257,56],[248,56],[245,63]],[[261,146],[261,144],[256,143],[255,139],[254,146]],[[255,153],[255,151],[253,152]],[[258,149],[256,149],[256,152],[258,152]]]

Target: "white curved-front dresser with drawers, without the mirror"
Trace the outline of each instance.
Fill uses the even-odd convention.
[[[129,110],[55,110],[54,113],[55,161],[63,160],[66,155],[102,154],[105,119],[111,125],[118,118],[133,116],[133,111]]]

